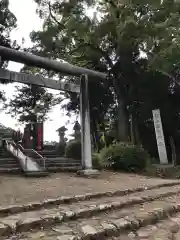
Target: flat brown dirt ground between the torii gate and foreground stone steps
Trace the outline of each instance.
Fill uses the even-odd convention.
[[[44,178],[0,176],[0,206],[27,204],[59,196],[157,185],[173,180],[134,174],[102,172],[98,179],[85,179],[73,173],[50,174]]]

